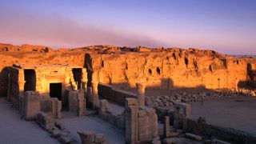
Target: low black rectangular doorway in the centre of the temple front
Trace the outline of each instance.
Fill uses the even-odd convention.
[[[62,100],[62,83],[50,83],[50,98]]]

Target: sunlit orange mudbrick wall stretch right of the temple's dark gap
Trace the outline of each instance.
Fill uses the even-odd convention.
[[[254,58],[219,56],[209,50],[91,54],[91,58],[93,81],[122,89],[142,81],[147,82],[147,89],[235,89],[248,80],[247,63],[256,64]]]

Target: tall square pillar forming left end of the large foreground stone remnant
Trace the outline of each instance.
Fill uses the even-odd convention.
[[[138,103],[135,98],[126,98],[126,143],[138,143]]]

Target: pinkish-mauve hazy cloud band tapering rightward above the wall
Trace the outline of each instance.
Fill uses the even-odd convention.
[[[59,15],[19,14],[0,10],[0,41],[54,47],[115,45],[162,46],[162,42],[143,34],[114,30],[114,26],[94,26]]]

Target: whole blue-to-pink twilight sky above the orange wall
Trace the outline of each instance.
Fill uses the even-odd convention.
[[[1,0],[0,43],[256,55],[254,0]]]

